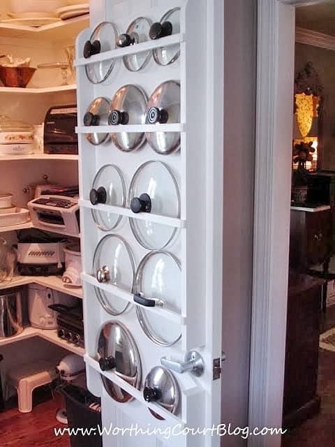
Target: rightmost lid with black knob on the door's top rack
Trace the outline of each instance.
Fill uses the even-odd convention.
[[[180,8],[168,10],[163,15],[160,22],[151,25],[149,36],[151,39],[158,39],[171,34],[180,33]],[[155,48],[153,51],[154,59],[158,65],[169,65],[176,61],[180,54],[180,45],[171,45],[169,47]]]

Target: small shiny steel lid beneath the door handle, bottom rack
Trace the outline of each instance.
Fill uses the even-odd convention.
[[[156,402],[170,413],[177,413],[179,405],[179,389],[172,373],[161,366],[155,366],[147,374],[144,381],[143,397],[147,402]],[[164,419],[149,409],[157,419]]]

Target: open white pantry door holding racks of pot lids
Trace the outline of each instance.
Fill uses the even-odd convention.
[[[101,396],[103,446],[219,446],[223,1],[92,0],[90,10],[91,27],[76,43],[77,132],[85,361],[89,389]],[[139,36],[145,34],[146,20],[169,17],[172,34],[117,47],[115,36],[125,34],[137,17],[142,17],[135,22]],[[105,23],[94,33],[101,22],[114,25]],[[121,36],[128,38],[134,39],[130,31]],[[89,54],[83,57],[87,41]],[[138,71],[127,68],[146,57]],[[120,95],[129,85],[134,96],[122,102]],[[151,96],[146,122],[136,122],[136,116],[142,117],[137,110],[141,94],[134,86]],[[152,104],[163,117],[159,122],[148,122]],[[161,112],[164,107],[168,117]],[[116,125],[108,124],[112,110]],[[146,139],[132,150],[134,135],[141,139],[144,132]],[[176,135],[180,143],[164,153],[162,147]],[[151,212],[142,193],[149,196]],[[140,212],[134,212],[134,198]],[[134,302],[137,292],[143,293],[142,304]],[[150,298],[163,300],[163,306],[148,307]],[[114,341],[108,338],[111,333]],[[125,342],[125,333],[131,342]],[[99,351],[101,339],[114,348]],[[187,368],[177,372],[193,351],[202,359],[202,374]],[[162,366],[155,376],[157,391],[156,382],[148,386],[146,378]],[[172,411],[159,404],[166,391],[159,388],[162,384],[172,397],[179,396]],[[150,399],[144,399],[145,387],[152,392]],[[132,399],[117,402],[111,388],[119,400],[124,395]]]

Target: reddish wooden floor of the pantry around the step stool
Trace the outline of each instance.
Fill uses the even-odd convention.
[[[20,413],[17,407],[0,413],[1,447],[69,447],[68,435],[56,437],[54,427],[60,424],[55,414],[64,406],[62,397],[34,404],[31,413]],[[3,444],[4,441],[4,444]]]

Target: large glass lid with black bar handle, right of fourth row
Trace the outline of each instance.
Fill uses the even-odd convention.
[[[137,268],[134,287],[136,314],[145,335],[160,346],[171,346],[181,337],[177,323],[146,311],[145,306],[162,306],[173,312],[181,309],[181,268],[177,258],[168,251],[151,251]]]

